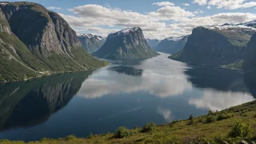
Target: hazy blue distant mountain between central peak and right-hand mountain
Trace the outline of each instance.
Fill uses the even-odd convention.
[[[188,41],[188,36],[169,37],[164,39],[156,46],[156,51],[166,52],[169,54],[180,52],[180,50],[185,47],[185,44]]]

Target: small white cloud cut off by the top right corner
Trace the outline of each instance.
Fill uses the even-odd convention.
[[[256,1],[246,2],[246,0],[210,0],[208,4],[217,7],[217,9],[239,9],[255,7]]]

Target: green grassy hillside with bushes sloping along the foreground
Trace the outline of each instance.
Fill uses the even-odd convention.
[[[33,143],[248,143],[256,141],[256,101],[228,108],[224,111],[187,120],[173,121],[155,126],[145,124],[142,128],[120,127],[116,133],[90,135],[78,138],[69,135],[57,140],[42,138]],[[24,143],[22,141],[0,140],[0,143]]]

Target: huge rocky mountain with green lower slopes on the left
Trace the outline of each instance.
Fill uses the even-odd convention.
[[[32,2],[0,4],[0,82],[103,65],[57,13]]]

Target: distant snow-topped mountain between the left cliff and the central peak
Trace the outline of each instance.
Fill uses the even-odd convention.
[[[90,33],[89,34],[77,33],[77,37],[79,38],[81,45],[89,54],[96,52],[105,43],[105,38],[103,38],[102,36],[92,35]]]

